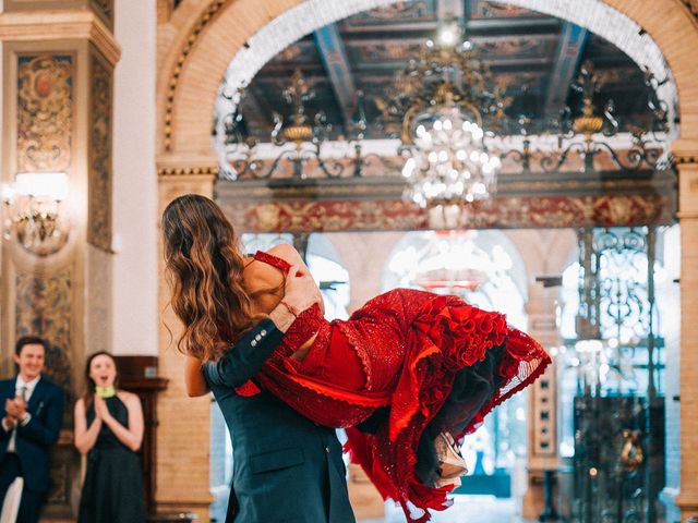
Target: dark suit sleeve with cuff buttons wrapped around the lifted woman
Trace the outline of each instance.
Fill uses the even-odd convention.
[[[281,342],[285,333],[263,319],[217,362],[202,368],[208,386],[241,387],[254,376]]]

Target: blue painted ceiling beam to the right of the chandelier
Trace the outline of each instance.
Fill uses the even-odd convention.
[[[589,32],[570,22],[565,22],[559,35],[559,45],[549,82],[543,115],[555,118],[565,107],[567,93],[577,71],[577,64],[587,44]]]

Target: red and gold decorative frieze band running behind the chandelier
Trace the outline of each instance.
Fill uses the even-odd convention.
[[[250,232],[376,231],[429,229],[422,209],[399,199],[301,200],[219,198],[227,216]],[[513,196],[469,207],[470,229],[669,224],[663,195]]]

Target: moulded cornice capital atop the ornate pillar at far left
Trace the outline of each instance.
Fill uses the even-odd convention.
[[[20,11],[0,14],[0,41],[89,40],[111,65],[121,47],[92,11]]]

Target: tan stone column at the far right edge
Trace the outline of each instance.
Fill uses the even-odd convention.
[[[686,521],[698,516],[698,138],[678,141],[672,150],[679,184],[682,315],[681,490],[675,502]]]

